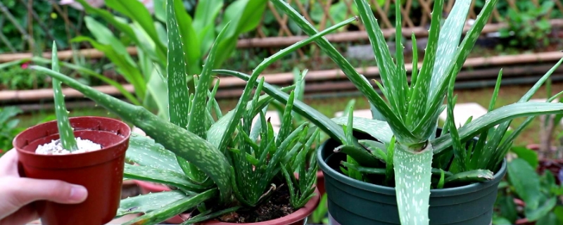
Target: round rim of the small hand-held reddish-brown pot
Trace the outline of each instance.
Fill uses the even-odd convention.
[[[68,118],[68,120],[70,122],[72,122],[72,120],[80,120],[80,119],[106,120],[106,121],[109,120],[108,122],[116,122],[116,123],[125,124],[125,122],[122,122],[121,120],[116,120],[116,119],[109,118],[109,117],[80,116],[80,117],[69,117]],[[108,148],[113,148],[115,146],[122,145],[124,142],[129,141],[129,139],[127,137],[129,137],[131,135],[131,127],[129,127],[129,125],[127,125],[127,126],[125,126],[125,127],[127,127],[127,130],[123,131],[123,133],[120,134],[121,136],[124,137],[124,139],[122,139],[118,142],[115,142],[110,146],[103,146],[103,148],[101,148],[100,150],[89,151],[89,152],[84,152],[84,153],[66,154],[66,155],[42,155],[42,154],[37,154],[35,152],[23,150],[23,148],[25,146],[16,146],[16,140],[20,139],[20,136],[23,136],[23,135],[25,135],[29,132],[32,132],[35,129],[42,129],[42,127],[45,127],[48,124],[52,124],[52,123],[56,123],[56,122],[57,122],[56,120],[51,120],[51,121],[48,121],[48,122],[44,122],[42,124],[37,124],[35,126],[28,127],[24,131],[21,131],[20,134],[16,135],[13,138],[13,141],[12,141],[13,148],[15,148],[15,150],[17,150],[18,153],[20,153],[20,154],[33,155],[34,157],[39,157],[39,158],[65,158],[65,157],[69,157],[70,155],[93,155],[93,154],[96,154],[96,152],[100,152],[100,151],[106,150]],[[87,130],[89,130],[89,129],[74,130],[74,132],[76,132],[76,131],[87,131]],[[91,129],[91,130],[93,131],[94,129]],[[108,132],[108,131],[106,131],[106,132]],[[58,133],[53,133],[53,134],[58,134]],[[53,134],[47,134],[45,136],[51,136]]]

